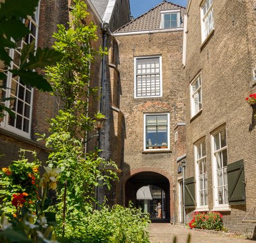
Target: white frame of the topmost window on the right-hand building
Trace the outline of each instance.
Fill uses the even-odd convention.
[[[211,1],[211,5],[207,9],[207,12],[204,14],[204,6],[207,3],[207,1]],[[202,4],[200,5],[200,13],[201,13],[201,36],[202,36],[202,43],[207,39],[207,36],[211,35],[212,31],[214,31],[214,19],[213,19],[213,4],[214,0],[204,0]],[[212,17],[212,26],[211,30],[209,30],[209,23],[208,23],[208,17],[211,15]],[[205,21],[207,21],[207,28],[205,27]],[[207,30],[207,32],[206,32]],[[206,32],[206,33],[205,33]]]

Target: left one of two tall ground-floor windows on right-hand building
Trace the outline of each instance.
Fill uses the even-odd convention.
[[[198,208],[202,208],[208,205],[205,141],[200,141],[195,145],[195,162],[196,162],[196,204],[198,205]]]

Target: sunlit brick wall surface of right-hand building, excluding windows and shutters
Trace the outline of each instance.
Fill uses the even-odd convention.
[[[223,212],[224,223],[230,231],[246,232],[252,235],[254,224],[244,224],[241,220],[253,207],[255,201],[255,169],[253,169],[256,155],[255,120],[252,118],[252,108],[245,102],[245,97],[255,92],[251,74],[251,67],[255,65],[255,56],[253,56],[255,45],[252,44],[255,43],[255,31],[252,33],[252,24],[255,21],[253,1],[230,3],[230,1],[215,0],[213,3],[215,30],[204,45],[201,44],[200,2],[200,0],[191,1],[188,13],[185,68],[186,177],[194,176],[195,173],[193,145],[205,136],[208,198],[211,210],[214,205],[211,132],[224,125],[227,129],[228,163],[243,159],[247,181],[246,207],[231,206],[231,211]],[[248,9],[250,9],[249,12]],[[251,19],[245,17],[247,12]],[[202,113],[191,119],[189,83],[198,72],[202,75],[203,108]]]

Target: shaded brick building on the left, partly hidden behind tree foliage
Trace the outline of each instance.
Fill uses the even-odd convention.
[[[40,6],[36,9],[35,15],[28,17],[31,34],[20,42],[30,43],[36,40],[38,47],[51,47],[54,43],[52,34],[57,31],[57,24],[66,24],[70,18],[69,10],[72,1],[41,0]],[[108,118],[102,133],[100,134],[99,146],[104,150],[102,156],[105,159],[115,159],[120,164],[120,148],[109,148],[109,141],[118,143],[120,139],[120,123],[122,114],[118,110],[118,69],[117,69],[117,43],[111,31],[129,22],[130,11],[129,1],[125,0],[105,0],[105,1],[85,1],[90,15],[84,20],[85,23],[91,21],[98,26],[97,36],[99,39],[93,42],[95,49],[106,47],[109,55],[101,58],[96,56],[91,65],[91,86],[103,86],[99,90],[101,99],[94,97],[90,100],[90,113],[101,111]],[[29,38],[28,38],[29,37]],[[116,49],[116,50],[115,50]],[[12,67],[19,67],[19,51],[10,51],[10,55],[15,60]],[[3,65],[0,68],[4,68]],[[6,102],[16,114],[12,118],[8,114],[0,123],[0,158],[1,167],[8,166],[11,161],[18,159],[20,148],[36,150],[38,159],[47,159],[47,149],[44,144],[36,142],[36,133],[47,134],[49,123],[47,120],[53,118],[58,113],[56,98],[49,93],[42,93],[36,89],[24,86],[19,79],[13,79],[12,74],[6,70],[6,79],[0,81],[12,89],[0,90],[1,97],[13,97]],[[119,120],[118,120],[119,119]],[[115,122],[115,123],[114,123]],[[119,123],[118,123],[119,122]],[[119,125],[118,125],[119,124]],[[115,129],[116,130],[115,130]],[[88,134],[89,136],[93,134]],[[94,148],[97,139],[88,143],[88,150]],[[120,143],[121,144],[121,143]],[[113,156],[112,156],[113,154]],[[115,156],[114,156],[115,155]]]

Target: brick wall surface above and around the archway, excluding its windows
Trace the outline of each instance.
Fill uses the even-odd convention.
[[[184,72],[180,45],[182,32],[149,35],[116,36],[119,42],[120,81],[122,96],[120,109],[124,113],[124,163],[122,178],[130,178],[132,171],[166,173],[170,182],[170,207],[173,220],[173,164],[175,164],[173,127],[184,121]],[[162,57],[163,97],[134,98],[134,57]],[[143,152],[143,114],[170,113],[170,152]],[[151,169],[150,169],[151,168]],[[163,174],[161,174],[163,175]],[[122,180],[125,189],[125,180]]]

